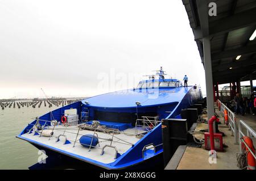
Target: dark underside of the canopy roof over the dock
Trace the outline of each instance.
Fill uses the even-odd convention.
[[[217,16],[209,16],[210,2]],[[183,0],[189,24],[204,64],[203,37],[210,37],[213,83],[256,79],[255,0]],[[239,60],[236,57],[241,55]]]

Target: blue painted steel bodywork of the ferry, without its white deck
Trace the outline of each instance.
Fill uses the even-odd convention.
[[[94,96],[93,98],[82,100],[81,102],[69,104],[68,106],[52,111],[52,113],[47,113],[46,115],[39,117],[39,119],[41,120],[41,125],[44,125],[45,123],[43,120],[60,121],[61,116],[64,115],[64,110],[70,108],[76,108],[77,112],[82,112],[89,109],[90,120],[93,120],[95,110],[134,113],[137,111],[135,102],[141,102],[141,106],[138,106],[138,112],[157,112],[160,119],[175,118],[180,116],[180,110],[187,108],[189,105],[195,103],[199,98],[201,98],[201,92],[198,87],[131,89],[98,95]],[[89,102],[89,105],[85,104],[85,101]],[[53,117],[51,115],[53,115]],[[81,117],[81,115],[79,116]],[[129,150],[115,159],[113,163],[105,164],[93,159],[82,157],[80,155],[72,154],[65,150],[42,144],[34,140],[30,140],[28,138],[24,138],[22,134],[28,132],[35,123],[36,120],[32,121],[32,123],[24,128],[17,137],[31,142],[33,145],[42,146],[46,149],[56,151],[57,153],[69,155],[70,157],[80,159],[82,161],[92,163],[93,165],[104,167],[106,169],[123,169],[131,167],[142,163],[147,159],[154,158],[163,152],[161,128],[162,124],[158,124],[154,129],[152,129],[150,132],[148,132],[148,134],[146,134],[136,144],[134,144],[134,146],[132,146]],[[89,140],[91,141],[92,137],[89,137]],[[86,143],[90,145],[90,141],[89,144],[88,141],[86,141]],[[95,140],[93,138],[93,142],[94,141]],[[96,142],[94,142],[93,145],[95,144]],[[148,144],[154,144],[156,146],[156,150],[147,150],[143,153],[143,147]]]

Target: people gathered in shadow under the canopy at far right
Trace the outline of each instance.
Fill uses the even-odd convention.
[[[245,113],[252,113],[256,115],[256,95],[251,95],[250,98],[243,97],[237,93],[229,102],[229,107],[235,113],[240,113],[241,115],[245,115]]]

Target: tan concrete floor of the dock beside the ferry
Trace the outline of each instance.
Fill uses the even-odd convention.
[[[181,145],[177,148],[175,154],[172,156],[170,162],[165,167],[165,170],[240,170],[237,167],[236,154],[240,152],[240,145],[235,144],[234,136],[229,127],[224,124],[224,117],[221,111],[215,107],[217,115],[220,116],[221,124],[218,125],[220,132],[223,132],[223,142],[225,145],[224,151],[217,151],[217,163],[209,163],[209,150],[204,148],[204,144],[201,148],[194,148],[187,145]],[[203,115],[207,117],[207,115]],[[238,121],[243,120],[252,129],[256,130],[256,118],[254,115],[236,115],[236,125],[238,128]],[[196,131],[208,129],[208,124],[197,123]],[[243,132],[246,132],[243,129]],[[196,135],[196,138],[204,138],[204,134]],[[254,145],[256,140],[254,139]]]

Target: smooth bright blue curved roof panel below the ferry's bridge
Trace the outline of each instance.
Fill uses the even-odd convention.
[[[152,107],[180,102],[191,88],[129,89],[97,95],[82,100],[82,103],[89,102],[89,105],[85,104],[87,107],[135,108],[136,102],[140,102],[143,107]]]

